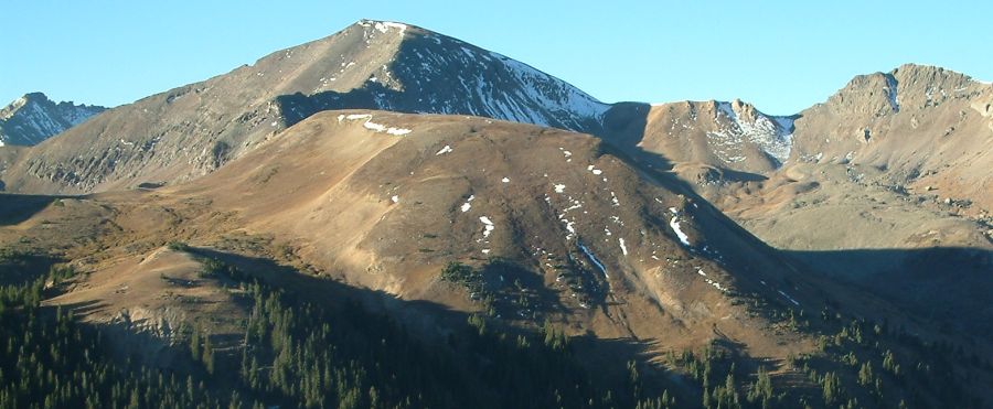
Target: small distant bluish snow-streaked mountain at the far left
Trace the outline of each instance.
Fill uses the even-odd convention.
[[[0,109],[0,147],[41,143],[106,109],[73,103],[55,104],[42,93],[25,94]]]

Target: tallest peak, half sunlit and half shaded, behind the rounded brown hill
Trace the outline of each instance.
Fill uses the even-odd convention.
[[[585,129],[609,107],[523,63],[413,25],[360,21],[254,65],[117,107],[20,157],[14,192],[190,180],[318,110],[480,115]],[[84,142],[85,141],[85,142]]]

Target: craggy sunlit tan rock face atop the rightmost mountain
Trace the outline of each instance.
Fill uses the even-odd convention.
[[[800,114],[791,160],[872,166],[880,183],[993,208],[991,104],[993,86],[939,67],[858,76]]]

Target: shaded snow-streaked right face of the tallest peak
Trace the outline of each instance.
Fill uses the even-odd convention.
[[[403,114],[469,115],[600,134],[586,98],[560,79],[451,37],[406,37],[385,78],[345,92],[297,93],[276,98],[286,125],[322,110],[381,109]],[[535,76],[532,76],[532,75]],[[547,77],[546,77],[547,75]],[[396,84],[399,84],[397,86]]]

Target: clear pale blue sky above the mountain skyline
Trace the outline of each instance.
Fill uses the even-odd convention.
[[[604,101],[751,101],[792,114],[903,63],[993,80],[993,1],[10,1],[0,105],[115,106],[369,18],[523,61]],[[375,6],[372,6],[375,4]]]

